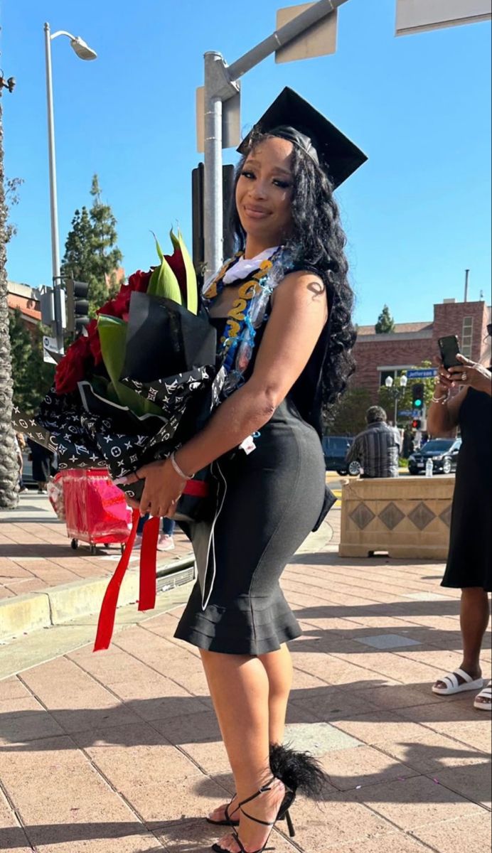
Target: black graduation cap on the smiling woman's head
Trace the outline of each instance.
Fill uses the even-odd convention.
[[[327,172],[335,188],[368,160],[360,148],[288,86],[240,143],[240,154],[248,153],[252,135],[258,131],[281,136],[302,148]]]

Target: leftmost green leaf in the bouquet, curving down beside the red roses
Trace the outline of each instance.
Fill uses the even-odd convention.
[[[124,366],[126,329],[127,324],[118,317],[104,314],[99,316],[97,331],[101,340],[102,361],[110,379],[104,397],[112,403],[128,406],[135,415],[162,415],[155,403],[141,397],[119,381]]]

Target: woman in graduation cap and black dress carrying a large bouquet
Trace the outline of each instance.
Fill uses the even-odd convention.
[[[240,252],[204,288],[229,363],[228,396],[176,455],[136,473],[146,479],[141,512],[153,515],[173,514],[186,479],[207,465],[223,485],[205,537],[208,572],[176,632],[200,648],[236,784],[232,803],[208,819],[234,827],[213,846],[219,853],[259,853],[284,816],[292,831],[296,788],[323,780],[314,762],[279,746],[292,684],[287,641],[301,631],[278,582],[323,513],[321,388],[328,402],[344,391],[355,340],[333,184],[366,160],[292,90],[240,151]],[[192,525],[197,556],[201,532]]]

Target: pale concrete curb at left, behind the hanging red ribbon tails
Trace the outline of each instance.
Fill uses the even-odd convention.
[[[177,583],[188,583],[189,572],[194,565],[190,554],[169,563],[157,566],[158,589],[170,589]],[[177,577],[174,577],[177,573]],[[179,577],[178,577],[179,576]],[[159,583],[159,579],[169,582]],[[0,601],[0,642],[9,641],[22,634],[52,625],[65,624],[80,616],[92,616],[99,611],[101,601],[109,583],[109,576],[83,578],[73,583],[43,589],[27,595],[16,595]],[[119,590],[118,606],[134,604],[138,600],[139,572],[130,568],[124,576]]]

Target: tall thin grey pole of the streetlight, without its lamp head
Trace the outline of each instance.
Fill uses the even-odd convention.
[[[44,46],[46,55],[46,103],[48,109],[49,150],[49,211],[51,217],[51,270],[53,276],[56,348],[63,351],[63,327],[61,322],[60,246],[58,237],[58,202],[56,198],[55,116],[53,113],[53,79],[51,74],[51,34],[49,24],[44,24]]]

